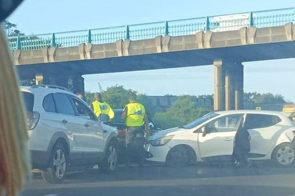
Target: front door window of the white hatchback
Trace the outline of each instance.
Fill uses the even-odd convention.
[[[205,126],[206,131],[208,133],[236,131],[238,129],[242,116],[242,114],[234,114],[220,117],[219,119],[216,119],[211,123],[208,123]]]

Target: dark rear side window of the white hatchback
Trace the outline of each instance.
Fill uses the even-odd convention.
[[[265,128],[279,122],[281,122],[281,119],[275,115],[247,114],[244,126],[247,129]]]

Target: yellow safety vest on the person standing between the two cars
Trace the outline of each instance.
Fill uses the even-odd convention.
[[[129,103],[127,107],[127,126],[142,126],[145,124],[144,118],[146,114],[145,107],[140,103]]]

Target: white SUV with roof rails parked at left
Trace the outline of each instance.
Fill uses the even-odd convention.
[[[33,169],[50,183],[61,182],[68,166],[117,167],[118,130],[102,122],[75,94],[58,86],[20,88],[28,118]]]

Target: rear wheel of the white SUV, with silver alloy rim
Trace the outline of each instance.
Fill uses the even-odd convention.
[[[57,144],[50,155],[48,168],[41,171],[42,178],[49,183],[61,183],[67,170],[67,153],[65,147]]]

